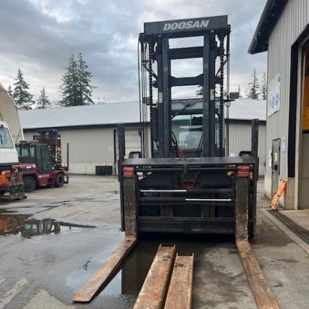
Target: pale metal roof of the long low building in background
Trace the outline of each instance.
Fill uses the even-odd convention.
[[[139,122],[139,102],[34,109],[19,111],[19,115],[24,129],[133,124]],[[266,120],[266,101],[235,100],[229,118]]]

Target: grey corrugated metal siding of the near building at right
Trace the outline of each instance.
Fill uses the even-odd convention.
[[[288,176],[288,108],[290,96],[290,53],[293,43],[309,20],[308,0],[288,1],[268,42],[268,82],[281,73],[280,110],[267,118],[266,153],[273,139],[286,138],[286,152],[281,152],[280,176]],[[266,174],[271,168],[266,164]]]

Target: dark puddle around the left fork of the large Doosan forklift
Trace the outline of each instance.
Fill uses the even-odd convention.
[[[223,241],[230,243],[231,239],[223,238]],[[207,242],[211,243],[211,247],[216,247],[222,242],[222,238],[220,238],[220,242],[218,242],[218,238],[208,238]],[[207,250],[209,251],[209,244],[206,245],[205,238],[202,237],[147,236],[146,238],[139,238],[135,248],[124,260],[117,274],[93,299],[95,304],[97,302],[102,304],[103,301],[103,304],[108,303],[108,306],[102,308],[119,308],[117,307],[119,304],[121,304],[121,308],[132,308],[160,244],[163,246],[174,246],[175,244],[176,251],[180,255],[192,255],[194,253],[195,264],[199,264],[198,257],[205,256]],[[207,247],[208,249],[205,249]],[[214,250],[214,247],[211,250]],[[67,278],[67,284],[73,290],[79,290],[107,260],[111,251],[113,251],[111,247],[105,248],[93,259],[87,260]]]

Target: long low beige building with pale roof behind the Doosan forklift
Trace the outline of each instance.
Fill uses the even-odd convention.
[[[266,102],[238,99],[231,102],[228,113],[231,156],[251,149],[251,119],[260,119],[260,174],[264,174]],[[141,149],[138,102],[23,110],[19,115],[27,140],[36,139],[38,130],[58,129],[64,164],[69,144],[71,173],[95,174],[96,167],[105,165],[117,172],[117,124],[125,125],[126,155]]]

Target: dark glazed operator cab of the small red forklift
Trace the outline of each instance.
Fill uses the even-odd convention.
[[[16,146],[16,150],[20,163],[34,163],[41,173],[54,170],[54,158],[46,144],[40,144],[36,141],[21,141]]]

